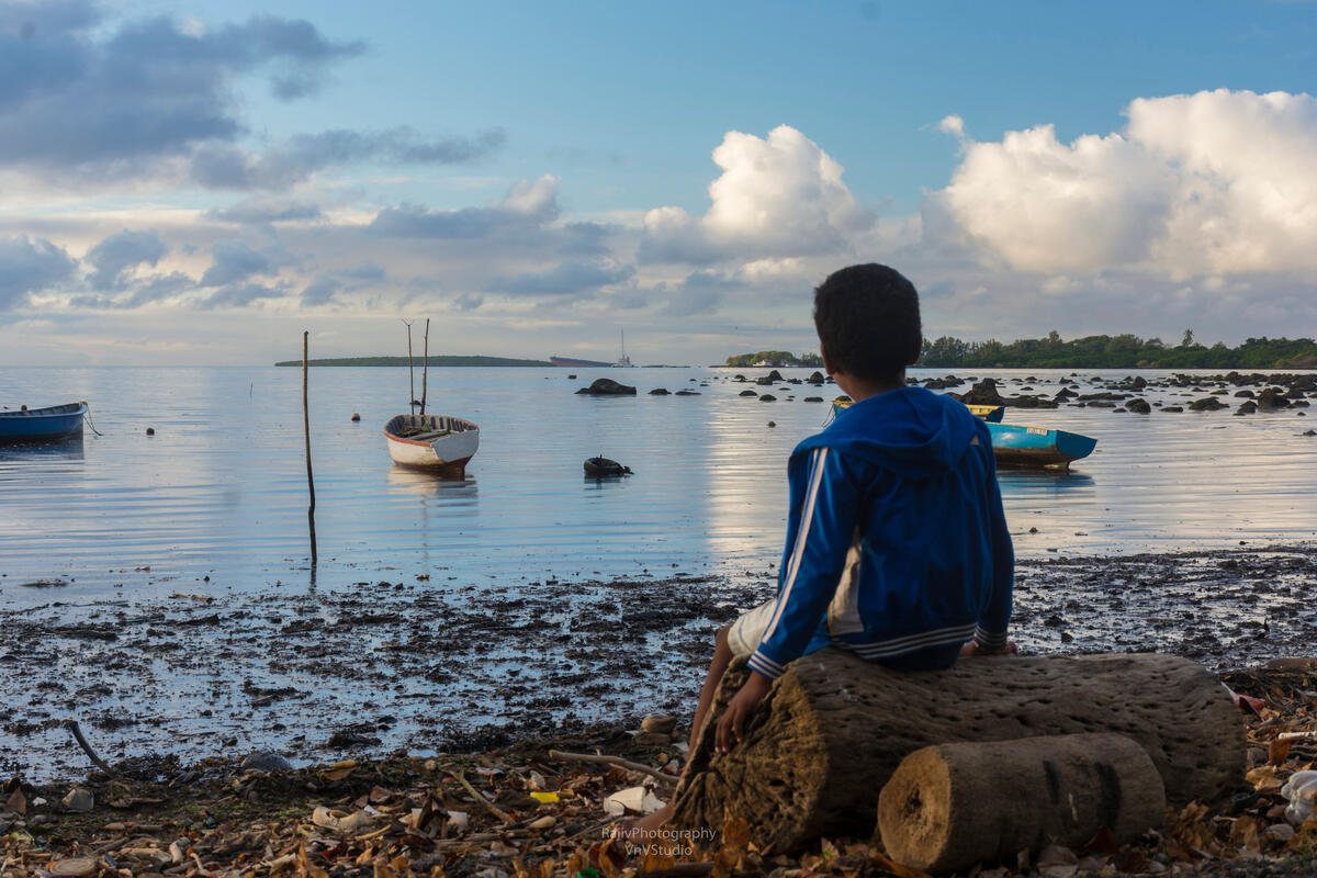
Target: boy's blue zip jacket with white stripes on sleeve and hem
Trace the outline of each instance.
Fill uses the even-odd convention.
[[[749,666],[843,646],[947,667],[1006,644],[1014,553],[988,428],[922,387],[871,396],[792,453],[777,602]]]

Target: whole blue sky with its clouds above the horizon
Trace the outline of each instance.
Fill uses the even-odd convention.
[[[1314,3],[0,0],[0,362],[1313,334]],[[843,170],[844,168],[844,170]],[[204,329],[203,329],[204,328]]]

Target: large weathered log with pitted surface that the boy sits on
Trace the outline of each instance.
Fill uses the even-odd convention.
[[[761,850],[873,832],[878,791],[910,753],[936,744],[1115,732],[1143,746],[1167,803],[1216,802],[1243,781],[1243,721],[1225,687],[1173,656],[967,658],[910,674],[823,649],[788,667],[714,757],[714,729],[745,681],[734,661],[674,795],[674,821],[745,819]]]

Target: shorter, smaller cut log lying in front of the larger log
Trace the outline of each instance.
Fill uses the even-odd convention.
[[[878,796],[888,856],[930,873],[1051,844],[1076,848],[1102,827],[1126,844],[1164,819],[1162,778],[1123,735],[926,746],[901,761]]]

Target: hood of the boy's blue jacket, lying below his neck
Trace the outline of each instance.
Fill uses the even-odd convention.
[[[923,387],[901,387],[855,403],[792,457],[831,448],[906,477],[922,478],[955,467],[988,429],[960,401]]]

